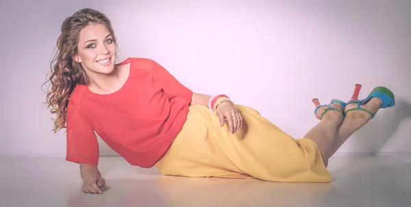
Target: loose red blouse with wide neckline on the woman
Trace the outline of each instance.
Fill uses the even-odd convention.
[[[66,161],[97,165],[96,132],[131,165],[152,167],[182,129],[192,91],[151,59],[128,58],[121,64],[130,64],[130,72],[119,91],[100,95],[85,85],[73,90]]]

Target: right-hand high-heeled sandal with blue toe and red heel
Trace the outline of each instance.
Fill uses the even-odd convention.
[[[358,95],[360,94],[361,87],[362,87],[362,85],[356,84],[356,87],[355,87],[354,92],[353,92],[353,96],[347,102],[347,105],[349,105],[353,102],[356,102],[358,107],[353,108],[353,109],[348,109],[347,111],[345,111],[345,113],[348,113],[349,111],[353,111],[353,110],[361,110],[361,111],[365,111],[366,113],[369,113],[372,116],[371,119],[373,119],[375,117],[375,114],[377,114],[379,109],[394,107],[394,105],[395,105],[395,96],[394,96],[393,92],[390,91],[390,89],[388,89],[386,87],[382,87],[382,86],[375,87],[373,89],[373,91],[369,94],[368,97],[366,97],[362,100],[358,100]],[[372,113],[371,111],[368,111],[366,109],[362,109],[361,105],[366,104],[373,97],[377,97],[377,98],[382,100],[382,105],[379,106],[377,111],[375,111],[375,113]]]

